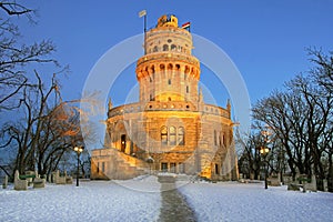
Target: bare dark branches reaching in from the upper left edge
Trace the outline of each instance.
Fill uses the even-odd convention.
[[[0,17],[0,111],[18,108],[18,95],[23,87],[33,87],[27,77],[27,65],[32,63],[52,62],[58,65],[54,59],[49,58],[56,50],[50,40],[42,40],[40,43],[26,44],[20,42],[20,31],[11,17],[26,16],[30,21],[33,18],[33,10],[26,8],[16,1],[0,1],[0,10],[4,12]],[[13,99],[14,98],[14,99]],[[12,100],[11,100],[12,99]]]

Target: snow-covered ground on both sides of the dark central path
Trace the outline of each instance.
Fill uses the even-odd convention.
[[[264,190],[261,183],[178,182],[199,221],[333,221],[333,193]],[[154,176],[89,181],[80,186],[0,189],[0,221],[159,221]],[[176,204],[176,203],[175,203]]]

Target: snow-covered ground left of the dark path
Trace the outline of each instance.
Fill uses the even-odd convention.
[[[28,191],[0,190],[0,221],[157,221],[161,196],[138,191],[159,185],[151,180],[81,182],[80,186],[47,184]]]

